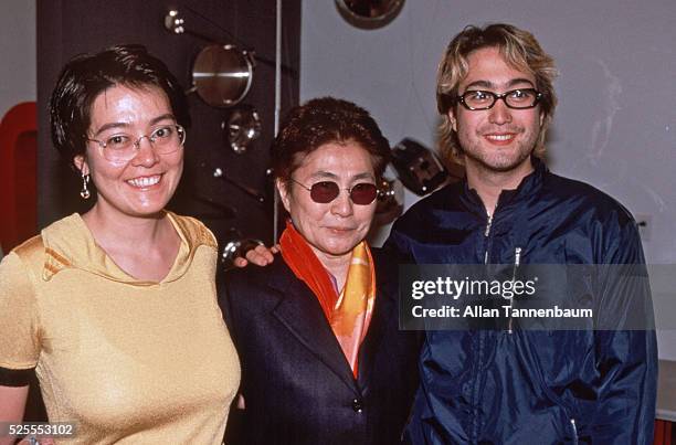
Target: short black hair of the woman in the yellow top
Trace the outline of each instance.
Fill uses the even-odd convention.
[[[86,150],[94,100],[116,85],[160,88],[177,123],[190,125],[183,88],[167,65],[145,46],[116,45],[96,54],[80,54],[63,67],[50,99],[52,141],[68,163]]]

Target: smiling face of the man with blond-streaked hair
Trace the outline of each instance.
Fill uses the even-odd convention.
[[[476,50],[467,57],[467,76],[460,83],[458,94],[469,89],[501,94],[515,88],[535,88],[535,76],[505,62],[497,47]],[[542,115],[539,106],[528,109],[508,108],[497,100],[493,108],[468,110],[456,105],[448,112],[471,171],[527,174],[530,153],[536,147]]]

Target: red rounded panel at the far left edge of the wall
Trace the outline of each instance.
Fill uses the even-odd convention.
[[[0,123],[0,244],[3,252],[38,232],[38,112],[12,107]]]

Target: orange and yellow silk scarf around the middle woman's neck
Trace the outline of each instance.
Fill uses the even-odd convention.
[[[338,295],[328,271],[291,222],[279,239],[282,257],[298,279],[313,290],[342,353],[357,378],[359,347],[363,341],[376,303],[376,269],[365,241],[352,248],[345,288]]]

